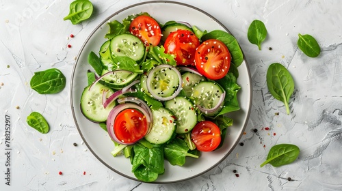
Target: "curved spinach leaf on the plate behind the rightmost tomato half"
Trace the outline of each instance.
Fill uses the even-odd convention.
[[[239,67],[244,61],[244,54],[239,46],[239,42],[235,39],[233,35],[221,30],[214,30],[202,36],[202,41],[216,39],[220,40],[228,47],[231,53],[232,61],[236,67]]]

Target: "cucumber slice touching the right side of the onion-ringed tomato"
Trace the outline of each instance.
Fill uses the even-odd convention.
[[[153,126],[148,134],[146,141],[160,145],[168,142],[174,135],[176,126],[174,123],[174,115],[167,108],[159,108],[152,110]]]

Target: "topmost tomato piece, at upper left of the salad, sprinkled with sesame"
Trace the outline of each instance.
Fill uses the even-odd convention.
[[[150,16],[135,17],[129,25],[129,32],[140,38],[145,46],[157,46],[160,42],[161,29],[157,21]]]

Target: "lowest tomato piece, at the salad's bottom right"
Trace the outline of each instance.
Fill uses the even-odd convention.
[[[192,129],[192,141],[198,151],[213,151],[221,143],[221,131],[211,121],[200,121]]]

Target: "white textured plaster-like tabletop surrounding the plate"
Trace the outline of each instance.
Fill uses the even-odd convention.
[[[70,74],[84,40],[104,18],[141,1],[94,0],[94,15],[81,25],[63,20],[70,2],[0,1],[0,190],[342,190],[342,1],[182,1],[218,18],[235,35],[252,74],[253,102],[241,138],[244,146],[200,177],[165,185],[109,171],[82,144],[70,110]],[[262,50],[247,39],[254,19],[267,27]],[[75,38],[68,38],[71,33]],[[306,57],[298,49],[298,33],[316,38],[323,50],[319,57]],[[285,65],[295,80],[291,115],[265,83],[267,67],[274,62]],[[40,95],[31,90],[34,72],[51,67],[65,74],[64,91]],[[49,121],[48,134],[27,126],[31,111]],[[3,179],[6,114],[12,117],[12,186]],[[252,132],[254,128],[259,131]],[[298,160],[260,168],[278,143],[298,145]]]

